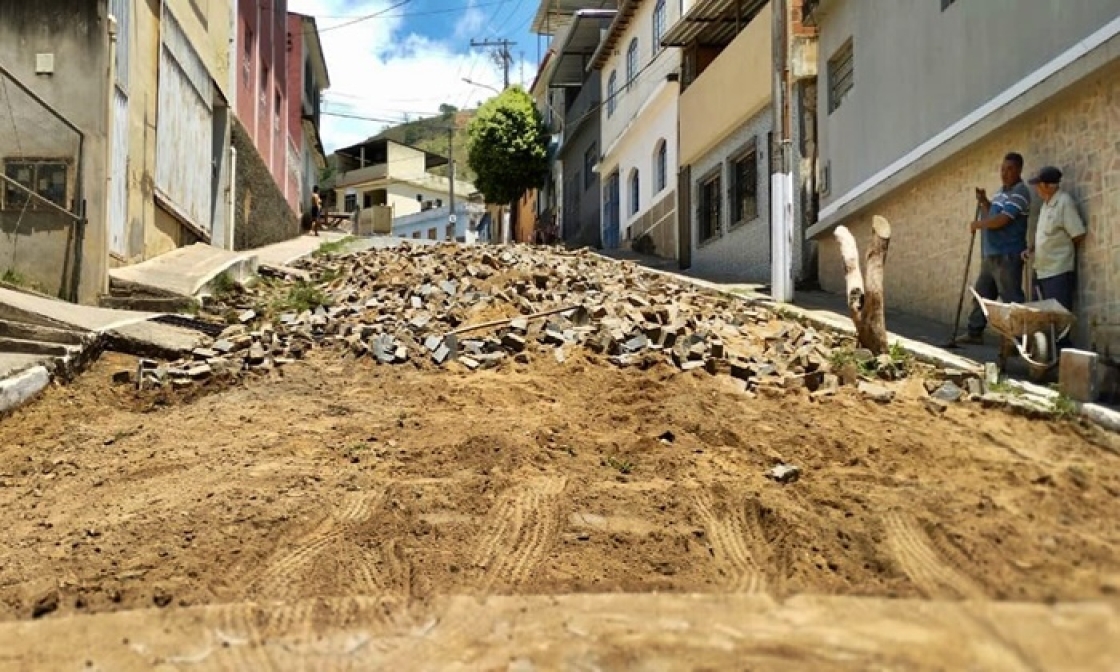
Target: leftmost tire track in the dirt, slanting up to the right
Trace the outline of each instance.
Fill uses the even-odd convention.
[[[291,547],[282,549],[267,562],[249,588],[267,599],[292,599],[299,597],[300,579],[314,568],[315,561],[329,548],[346,542],[346,535],[370,519],[384,493],[355,492],[343,495],[338,508],[324,517],[309,532],[298,538]],[[365,567],[368,556],[358,553],[363,561],[362,573],[375,573],[375,568]],[[355,559],[357,561],[357,559]]]

